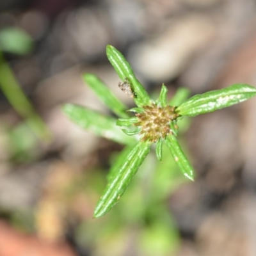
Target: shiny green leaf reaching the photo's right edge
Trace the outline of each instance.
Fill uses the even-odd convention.
[[[256,88],[253,86],[233,84],[221,90],[214,90],[191,97],[177,108],[177,113],[182,116],[196,116],[232,106],[255,95]]]

